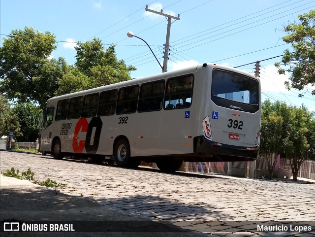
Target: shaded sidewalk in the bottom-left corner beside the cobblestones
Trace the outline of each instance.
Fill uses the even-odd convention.
[[[35,233],[4,232],[1,236],[128,236],[128,237],[203,237],[206,234],[191,232],[175,225],[150,221],[138,216],[128,216],[116,210],[95,203],[87,197],[69,196],[55,189],[35,185],[27,180],[0,176],[0,219],[12,222],[29,221],[102,221],[109,229],[106,233],[74,232],[74,233]],[[98,223],[98,222],[96,222]],[[84,224],[84,223],[83,223]],[[99,223],[98,223],[99,224]],[[122,230],[117,233],[117,230]],[[130,231],[130,232],[129,232]]]

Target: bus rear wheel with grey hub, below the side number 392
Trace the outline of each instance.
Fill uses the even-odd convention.
[[[119,167],[137,168],[141,160],[136,157],[130,157],[130,145],[126,139],[120,139],[114,151],[116,165]]]

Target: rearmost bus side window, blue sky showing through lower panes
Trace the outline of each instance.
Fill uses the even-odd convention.
[[[191,105],[193,76],[170,78],[166,82],[164,109],[188,108]]]

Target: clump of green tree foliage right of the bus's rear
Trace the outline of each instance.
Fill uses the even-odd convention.
[[[286,155],[295,180],[303,160],[315,157],[313,116],[304,106],[297,108],[269,100],[262,104],[261,150],[267,155],[272,152]],[[270,163],[270,167],[274,164]]]

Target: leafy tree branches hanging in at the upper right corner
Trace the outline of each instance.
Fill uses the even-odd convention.
[[[291,73],[289,77],[291,84],[285,82],[287,89],[292,87],[302,90],[308,84],[315,85],[315,10],[298,15],[298,19],[299,23],[291,23],[284,27],[287,35],[283,40],[291,43],[294,51],[285,50],[282,62],[276,63],[275,66],[280,74],[284,74],[285,71]],[[281,65],[288,68],[281,68]],[[312,94],[315,95],[315,90]]]

